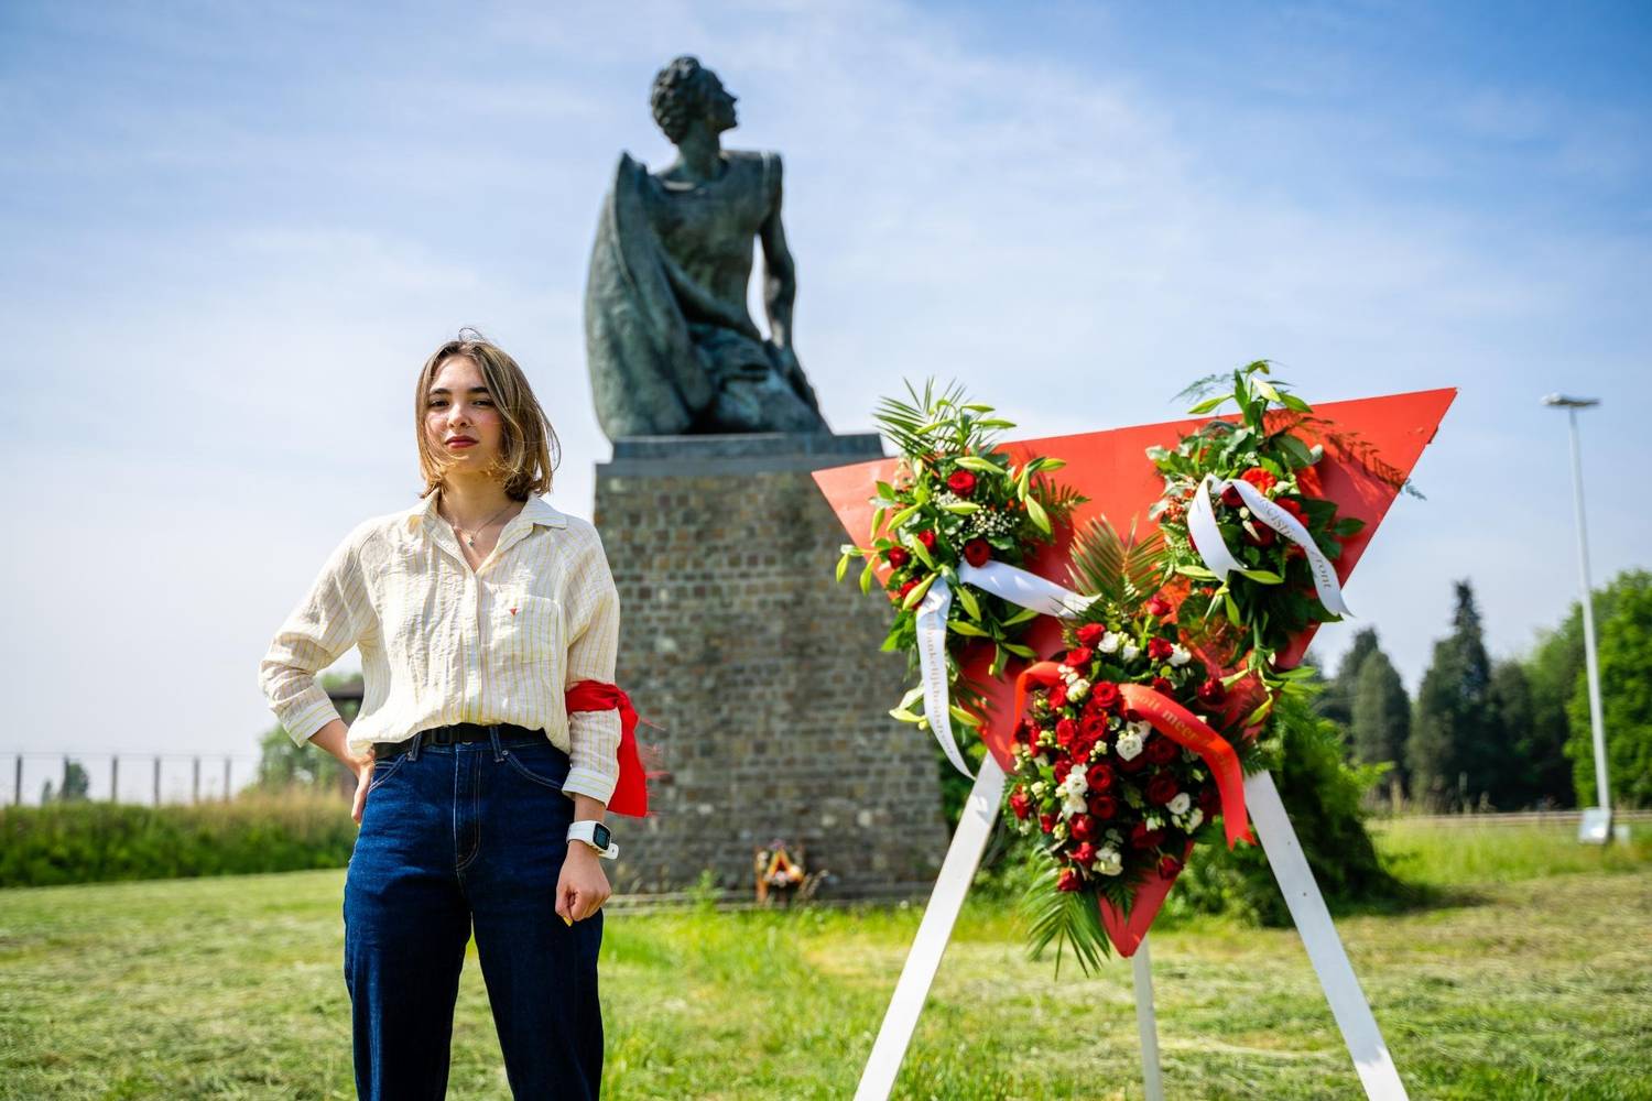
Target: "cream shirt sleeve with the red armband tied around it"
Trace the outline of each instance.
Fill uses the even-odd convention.
[[[568,576],[565,599],[568,654],[563,687],[580,680],[613,683],[620,654],[620,591],[595,528]],[[568,715],[568,777],[562,791],[606,804],[620,782],[620,711]]]

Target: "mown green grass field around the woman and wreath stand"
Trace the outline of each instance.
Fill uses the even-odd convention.
[[[1432,905],[1338,923],[1412,1098],[1652,1098],[1652,843],[1383,827]],[[0,1096],[354,1098],[344,872],[0,891]],[[1130,967],[960,923],[897,1096],[1138,1098]],[[605,1098],[846,1098],[917,908],[613,913]],[[1294,931],[1153,934],[1173,1098],[1345,1098],[1358,1080]],[[472,956],[449,1098],[509,1098]]]

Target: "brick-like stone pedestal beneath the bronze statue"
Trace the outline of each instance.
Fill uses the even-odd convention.
[[[928,735],[889,718],[905,655],[892,611],[843,584],[844,533],[809,470],[876,459],[879,437],[671,436],[615,442],[596,527],[620,588],[618,682],[666,776],[656,810],[615,819],[616,891],[710,870],[753,888],[752,853],[808,850],[821,896],[927,890],[947,847]]]

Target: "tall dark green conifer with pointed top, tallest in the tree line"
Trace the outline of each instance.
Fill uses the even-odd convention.
[[[1452,634],[1434,644],[1434,662],[1422,675],[1406,744],[1412,801],[1447,810],[1492,797],[1503,746],[1490,713],[1490,690],[1492,659],[1474,588],[1459,581]]]

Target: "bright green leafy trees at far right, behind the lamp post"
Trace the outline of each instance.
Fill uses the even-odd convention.
[[[1617,579],[1611,616],[1599,624],[1601,718],[1606,726],[1607,781],[1616,806],[1652,806],[1652,574]],[[1588,680],[1579,675],[1568,705],[1578,797],[1596,802],[1594,743],[1589,733]]]

